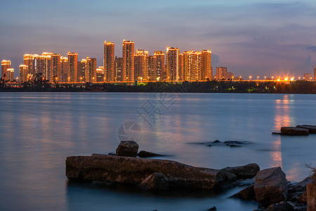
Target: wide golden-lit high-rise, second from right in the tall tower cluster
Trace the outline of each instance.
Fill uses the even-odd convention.
[[[187,81],[201,80],[201,52],[183,52],[183,79]]]

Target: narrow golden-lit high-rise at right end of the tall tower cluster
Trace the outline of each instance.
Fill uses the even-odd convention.
[[[212,52],[209,50],[202,50],[201,80],[206,79],[213,79]]]

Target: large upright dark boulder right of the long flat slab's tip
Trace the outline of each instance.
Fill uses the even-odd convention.
[[[264,207],[287,199],[287,179],[280,167],[261,170],[256,174],[254,191]]]

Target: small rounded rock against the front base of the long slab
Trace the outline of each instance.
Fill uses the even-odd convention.
[[[147,191],[166,191],[169,189],[169,179],[162,173],[154,172],[144,179],[139,187]]]

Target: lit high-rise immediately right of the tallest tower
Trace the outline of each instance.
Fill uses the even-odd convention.
[[[136,49],[134,54],[134,79],[149,79],[148,51]]]

